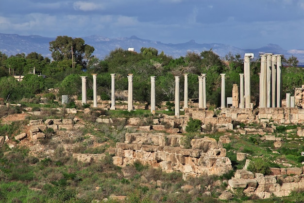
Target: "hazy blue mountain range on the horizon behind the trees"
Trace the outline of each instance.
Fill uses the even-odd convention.
[[[6,55],[37,52],[43,56],[51,57],[49,42],[55,38],[56,37],[41,37],[36,35],[19,36],[16,34],[0,34],[0,51]],[[98,58],[104,58],[116,48],[127,50],[129,47],[133,47],[135,51],[139,52],[141,47],[153,47],[157,49],[159,53],[164,51],[166,55],[174,58],[185,56],[187,52],[201,53],[202,51],[212,49],[212,51],[220,55],[220,57],[224,57],[229,52],[233,55],[240,54],[241,56],[245,53],[254,53],[255,58],[257,58],[260,53],[282,54],[285,55],[286,58],[294,55],[301,64],[304,64],[304,50],[284,50],[276,44],[268,44],[258,49],[241,49],[220,43],[198,44],[194,40],[179,44],[166,44],[160,41],[140,39],[136,36],[109,38],[92,35],[82,38],[86,44],[95,48],[93,55]]]

